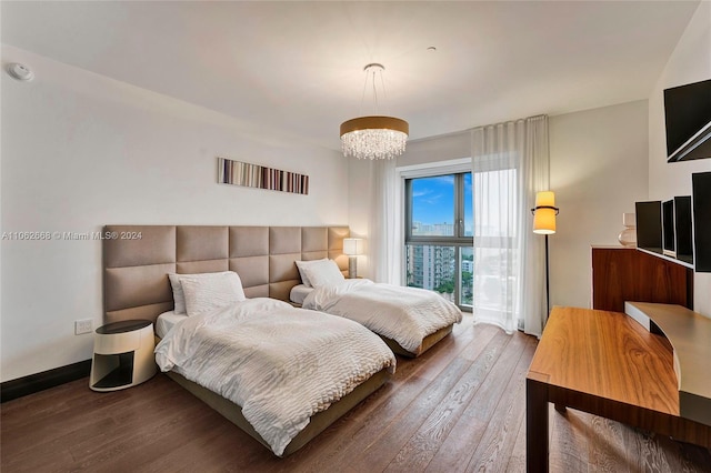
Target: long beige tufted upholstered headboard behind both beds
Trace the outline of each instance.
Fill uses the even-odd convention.
[[[248,298],[289,300],[294,261],[330,258],[348,270],[348,227],[107,225],[106,322],[156,321],[173,308],[168,273],[234,271]]]

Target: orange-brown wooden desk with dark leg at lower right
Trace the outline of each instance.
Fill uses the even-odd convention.
[[[527,376],[527,467],[548,471],[548,403],[711,449],[711,427],[679,416],[672,351],[619,312],[553,308]]]

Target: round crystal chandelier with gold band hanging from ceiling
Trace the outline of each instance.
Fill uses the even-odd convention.
[[[375,77],[380,76],[381,90],[384,97],[385,84],[382,79],[382,72],[385,68],[382,64],[371,63],[365,66],[363,70],[365,71],[363,99],[365,98],[368,84],[372,81],[375,114],[358,117],[341,123],[343,155],[370,160],[395,158],[404,152],[410,125],[399,118],[377,114],[378,90],[375,88]]]

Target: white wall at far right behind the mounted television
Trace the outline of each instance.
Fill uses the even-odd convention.
[[[691,194],[691,174],[711,171],[711,159],[667,163],[663,91],[711,79],[711,2],[702,1],[649,98],[649,199]],[[711,273],[694,275],[694,311],[711,316]]]

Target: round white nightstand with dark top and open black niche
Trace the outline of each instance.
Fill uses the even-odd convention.
[[[101,325],[93,339],[89,388],[117,391],[150,380],[156,374],[153,323],[127,320]]]

